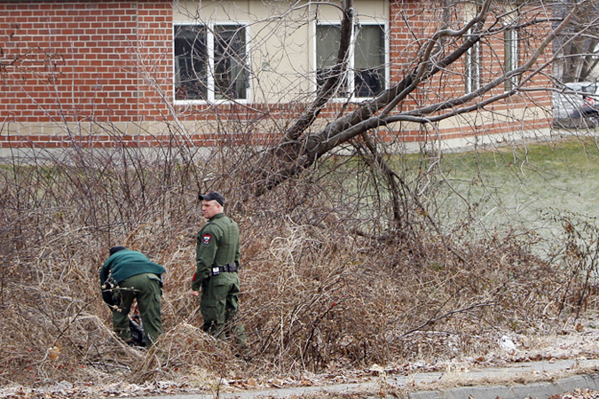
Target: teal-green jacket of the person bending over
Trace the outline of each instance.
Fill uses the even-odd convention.
[[[150,262],[145,254],[138,251],[123,249],[110,256],[100,270],[100,286],[104,301],[112,296],[113,288],[106,285],[106,280],[110,279],[114,284],[118,284],[124,279],[142,273],[154,273],[160,277],[162,273],[166,273],[166,270],[161,265]]]

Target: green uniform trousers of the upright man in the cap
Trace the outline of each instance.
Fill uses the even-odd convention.
[[[204,318],[202,329],[214,337],[233,338],[245,345],[245,328],[237,324],[240,279],[237,273],[223,272],[206,278],[201,285],[200,310]]]

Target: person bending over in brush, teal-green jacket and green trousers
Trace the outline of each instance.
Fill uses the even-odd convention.
[[[100,271],[102,297],[113,312],[114,332],[131,343],[129,312],[138,300],[139,316],[148,347],[162,334],[162,273],[166,270],[138,251],[124,246],[110,248],[110,257]]]

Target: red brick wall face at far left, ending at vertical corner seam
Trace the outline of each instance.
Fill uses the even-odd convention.
[[[138,78],[123,67],[138,37],[137,2],[0,3],[0,115],[24,122],[130,118]]]

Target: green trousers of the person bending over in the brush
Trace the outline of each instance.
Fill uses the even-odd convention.
[[[142,273],[122,280],[114,289],[113,328],[119,338],[131,340],[129,312],[134,299],[138,300],[147,346],[151,347],[162,334],[160,285],[160,278],[154,273]]]

